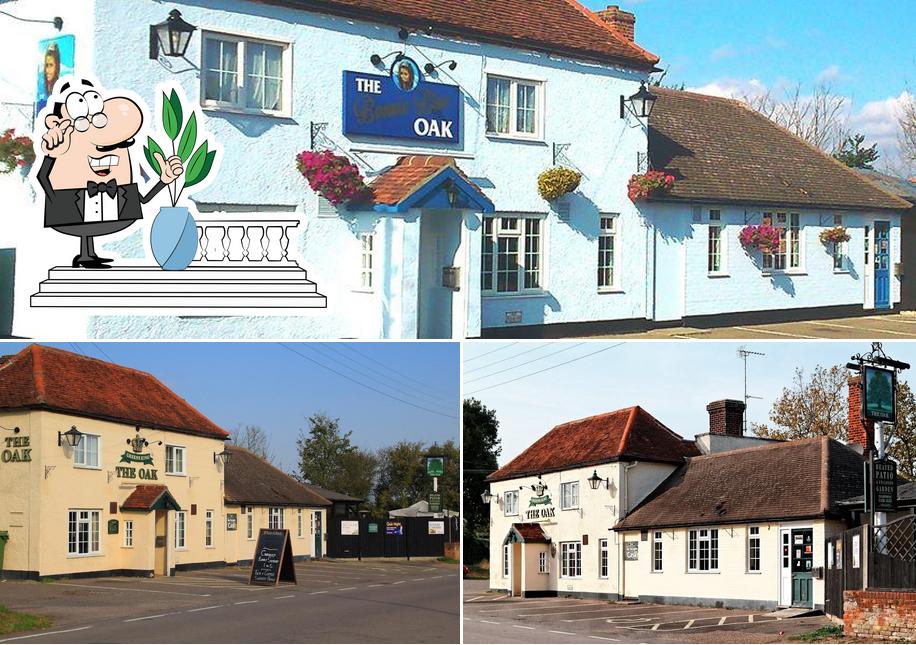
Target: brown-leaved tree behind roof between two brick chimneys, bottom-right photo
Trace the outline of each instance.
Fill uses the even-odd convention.
[[[801,369],[795,370],[791,387],[770,408],[773,425],[751,424],[758,437],[768,439],[805,439],[828,436],[846,440],[846,370],[839,365],[825,368],[818,365],[810,379]]]

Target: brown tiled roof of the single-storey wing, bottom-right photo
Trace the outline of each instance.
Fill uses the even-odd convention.
[[[835,516],[861,492],[862,464],[827,437],[691,457],[614,529]]]

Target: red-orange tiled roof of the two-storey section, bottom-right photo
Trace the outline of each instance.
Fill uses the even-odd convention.
[[[558,425],[487,479],[526,477],[622,459],[681,463],[695,454],[693,443],[637,405]]]

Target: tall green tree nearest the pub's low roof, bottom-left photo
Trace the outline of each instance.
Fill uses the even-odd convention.
[[[309,417],[308,434],[300,431],[296,441],[299,478],[339,493],[367,499],[377,462],[375,456],[350,441],[352,432],[342,432],[340,419],[319,412]]]

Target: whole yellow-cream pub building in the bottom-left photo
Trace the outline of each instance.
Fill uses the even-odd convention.
[[[150,374],[40,345],[0,358],[0,577],[245,563],[275,527],[320,557],[331,502],[228,439]]]

